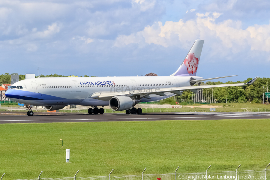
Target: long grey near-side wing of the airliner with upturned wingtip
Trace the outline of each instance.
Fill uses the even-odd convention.
[[[183,86],[183,87],[173,87],[173,88],[145,88],[145,89],[137,89],[134,91],[125,91],[125,92],[98,92],[91,95],[89,98],[108,100],[114,96],[132,96],[132,95],[140,95],[140,97],[144,97],[149,94],[157,94],[161,96],[166,96],[164,92],[171,92],[177,95],[181,95],[181,91],[189,90],[194,93],[198,93],[198,89],[204,88],[217,88],[217,87],[230,87],[230,86],[242,86],[242,85],[250,85],[252,84],[258,77],[255,77],[251,81],[247,83],[236,83],[236,84],[218,84],[218,85],[199,85],[199,86]]]

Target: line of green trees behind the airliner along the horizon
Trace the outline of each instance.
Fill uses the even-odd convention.
[[[14,73],[13,73],[14,74]],[[9,73],[5,73],[0,75],[0,84],[10,84],[11,81],[11,75]],[[49,75],[40,75],[40,77],[68,77],[68,76],[63,76],[63,75],[58,75],[58,74],[49,74]],[[38,76],[36,76],[38,77]],[[82,77],[82,76],[81,76]],[[89,77],[88,75],[84,75],[84,77]],[[93,77],[93,76],[91,76]],[[19,80],[25,79],[25,75],[20,74],[19,75]],[[206,83],[201,82],[200,85],[216,85],[216,84],[234,84],[234,83],[247,83],[251,80],[252,78],[247,78],[244,81],[237,81],[237,82],[211,82],[208,81]],[[244,85],[244,86],[233,86],[233,87],[219,87],[219,88],[208,88],[204,89],[202,91],[202,97],[206,102],[212,102],[215,100],[216,102],[221,102],[221,103],[243,103],[243,102],[254,102],[254,103],[261,103],[262,102],[262,91],[267,92],[267,84],[268,81],[270,83],[269,78],[258,78],[253,84],[251,85]],[[270,84],[268,88],[268,92],[270,92]],[[176,96],[177,100],[183,101],[186,99],[186,101],[193,101],[196,96],[194,96],[193,92],[190,91],[185,91],[182,93],[182,95]],[[269,99],[270,101],[270,99]],[[268,102],[267,98],[264,98],[264,102]]]

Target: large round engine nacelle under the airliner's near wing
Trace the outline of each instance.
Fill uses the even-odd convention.
[[[136,102],[127,96],[115,96],[109,101],[110,108],[113,111],[128,110],[135,104]]]

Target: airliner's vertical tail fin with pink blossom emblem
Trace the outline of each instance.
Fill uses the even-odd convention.
[[[196,40],[178,70],[170,76],[196,76],[204,40]]]

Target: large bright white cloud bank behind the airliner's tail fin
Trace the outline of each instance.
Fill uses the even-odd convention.
[[[163,25],[156,22],[146,26],[143,31],[131,35],[121,35],[116,39],[115,46],[123,44],[156,44],[164,47],[179,46],[189,49],[196,39],[205,39],[206,42],[213,38],[221,40],[222,46],[210,45],[216,53],[237,53],[245,48],[258,51],[270,51],[270,25],[254,25],[241,29],[241,21],[224,20],[216,22],[220,13],[197,13],[197,18],[184,22],[166,21]],[[217,41],[217,40],[216,40]]]

